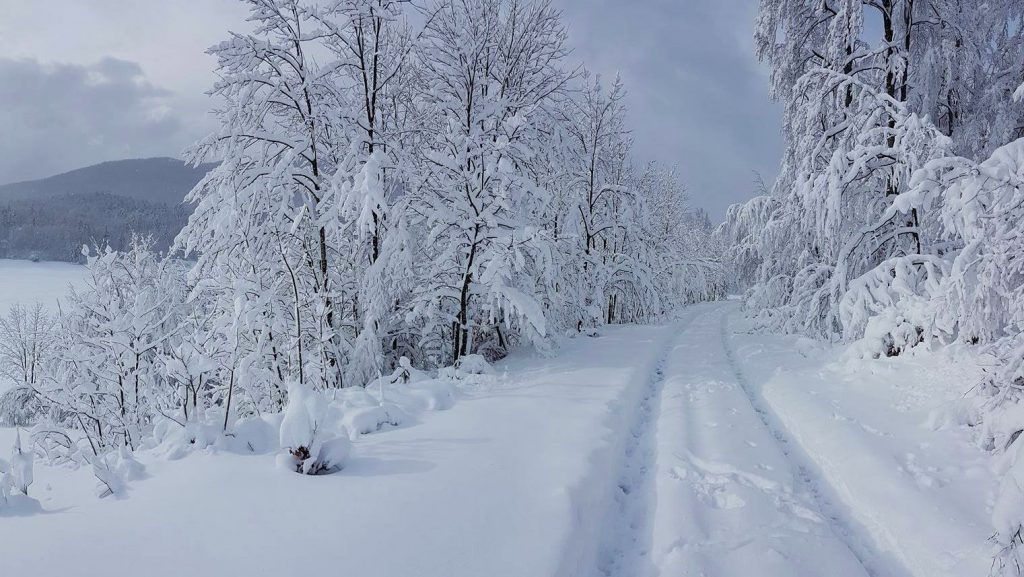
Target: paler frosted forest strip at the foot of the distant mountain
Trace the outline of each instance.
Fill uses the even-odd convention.
[[[83,262],[83,246],[127,250],[133,235],[166,252],[190,211],[101,192],[0,201],[0,258]]]

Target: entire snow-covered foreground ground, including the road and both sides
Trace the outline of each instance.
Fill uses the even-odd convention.
[[[36,501],[0,512],[2,574],[987,571],[978,488],[994,478],[941,418],[969,359],[847,361],[736,326],[736,303],[710,303],[520,353],[450,410],[358,438],[325,477],[272,454],[141,451],[144,478],[98,499],[89,471],[37,463]]]

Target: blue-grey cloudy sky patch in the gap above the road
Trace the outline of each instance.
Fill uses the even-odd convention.
[[[771,181],[780,108],[754,53],[756,0],[558,0],[575,57],[621,73],[638,162],[677,165],[696,206],[721,218]]]

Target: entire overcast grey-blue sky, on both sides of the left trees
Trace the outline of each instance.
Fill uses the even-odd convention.
[[[638,161],[677,165],[716,219],[751,196],[755,170],[774,176],[757,0],[555,1],[573,59],[622,74]],[[238,0],[0,0],[0,183],[179,156],[211,127],[204,50],[245,14]]]

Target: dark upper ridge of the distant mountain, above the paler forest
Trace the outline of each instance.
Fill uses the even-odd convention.
[[[103,162],[48,178],[0,186],[0,202],[105,193],[175,205],[215,166],[203,164],[194,168],[173,158]]]

